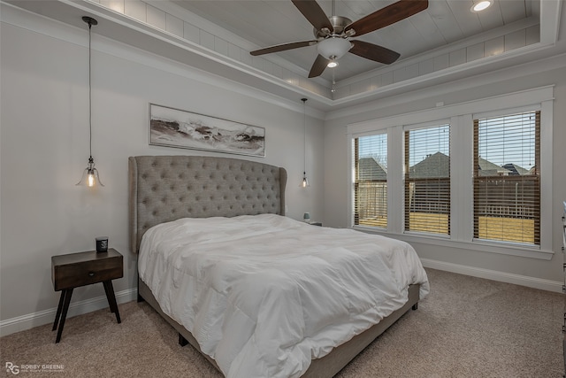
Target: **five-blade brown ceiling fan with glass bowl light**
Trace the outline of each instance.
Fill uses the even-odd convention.
[[[316,39],[278,44],[251,51],[250,54],[257,56],[317,45],[318,56],[310,68],[310,78],[320,76],[325,71],[326,66],[338,66],[337,60],[347,52],[386,65],[393,63],[401,54],[377,44],[351,40],[350,38],[394,24],[424,11],[428,7],[428,0],[399,0],[352,22],[351,19],[341,16],[326,17],[325,12],[315,0],[292,0],[292,2],[315,28]]]

